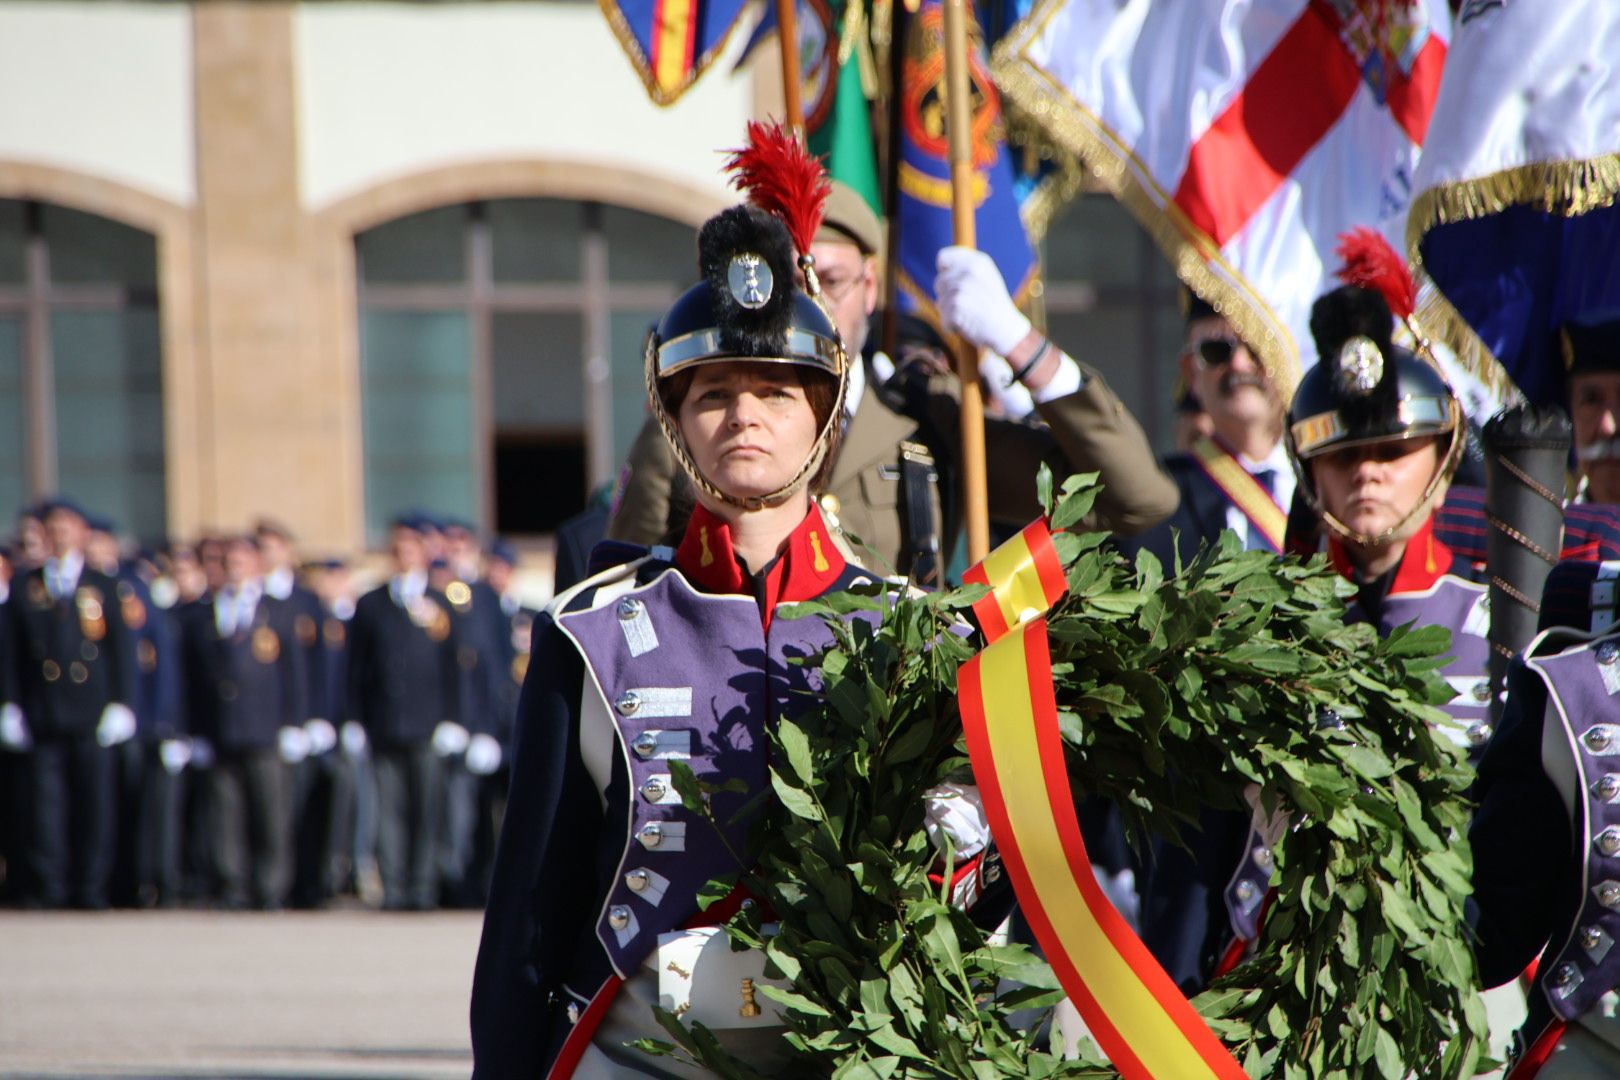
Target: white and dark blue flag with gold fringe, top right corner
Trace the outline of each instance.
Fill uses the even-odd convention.
[[[1565,400],[1563,324],[1620,309],[1617,57],[1620,5],[1468,0],[1418,164],[1419,319],[1536,403]]]

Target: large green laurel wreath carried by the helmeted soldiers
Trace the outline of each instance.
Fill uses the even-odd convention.
[[[1053,495],[1053,529],[1090,510],[1094,478]],[[1068,771],[1118,805],[1139,845],[1205,810],[1290,814],[1275,900],[1251,959],[1194,999],[1251,1077],[1458,1077],[1486,1018],[1466,941],[1469,771],[1437,725],[1443,628],[1379,640],[1345,623],[1349,586],[1322,559],[1244,552],[1228,534],[1166,575],[1102,534],[1056,533],[1069,593],[1050,614]],[[791,989],[761,986],[789,1033],[782,1075],[1113,1077],[1094,1046],[1047,1046],[1063,997],[1029,949],[974,925],[928,878],[923,792],[964,779],[953,628],[982,594],[841,594],[800,606],[834,644],[816,708],[773,733],[774,798],[742,874],[774,910],[727,923]],[[873,625],[854,612],[881,615]],[[870,619],[872,615],[868,615]],[[705,813],[705,785],[676,769]],[[1145,847],[1144,847],[1145,850]],[[724,895],[735,878],[711,882]],[[760,1074],[669,1014],[643,1041],[723,1077]]]

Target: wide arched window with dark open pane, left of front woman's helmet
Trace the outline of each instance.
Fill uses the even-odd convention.
[[[695,275],[690,227],[491,199],[355,238],[366,534],[402,508],[546,533],[642,424],[648,327]]]

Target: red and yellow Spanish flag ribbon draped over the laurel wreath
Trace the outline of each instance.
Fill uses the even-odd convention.
[[[1092,876],[1058,732],[1045,614],[1066,583],[1045,521],[964,580],[991,589],[974,604],[990,644],[957,677],[967,751],[1047,960],[1126,1080],[1241,1080],[1231,1052]]]

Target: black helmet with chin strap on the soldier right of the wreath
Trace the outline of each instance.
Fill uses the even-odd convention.
[[[1464,439],[1463,406],[1440,371],[1392,340],[1395,317],[1383,296],[1345,285],[1311,308],[1311,337],[1320,358],[1299,381],[1288,408],[1288,455],[1299,489],[1317,515],[1343,538],[1383,544],[1445,489]],[[1424,497],[1393,528],[1364,536],[1328,513],[1311,476],[1311,458],[1345,447],[1450,436],[1442,465]]]

